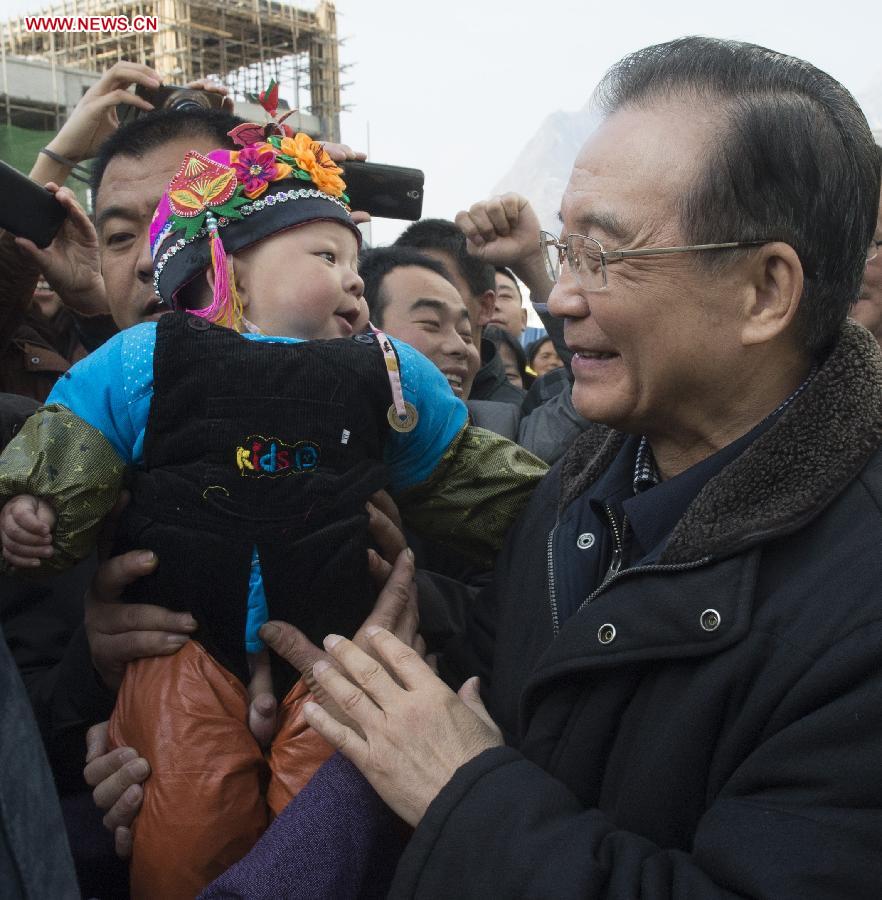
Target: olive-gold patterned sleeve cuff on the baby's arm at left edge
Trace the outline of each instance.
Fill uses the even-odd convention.
[[[63,406],[43,406],[25,422],[0,455],[0,506],[31,494],[55,508],[55,553],[33,571],[59,572],[89,555],[125,471],[107,438]]]

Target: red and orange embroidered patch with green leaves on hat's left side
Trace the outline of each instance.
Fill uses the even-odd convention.
[[[186,229],[184,240],[189,241],[209,213],[241,219],[238,207],[248,202],[242,194],[235,169],[190,150],[168,186],[169,221],[175,231]]]

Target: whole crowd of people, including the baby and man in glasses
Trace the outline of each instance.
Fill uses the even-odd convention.
[[[645,48],[558,233],[369,247],[363,154],[158,84],[106,72],[30,173],[58,235],[0,232],[4,896],[877,896],[851,95]]]

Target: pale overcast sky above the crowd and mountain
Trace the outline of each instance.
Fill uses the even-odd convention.
[[[3,14],[51,3],[3,0]],[[314,8],[314,0],[299,4]],[[588,100],[631,50],[686,34],[764,44],[810,60],[855,94],[882,92],[882,7],[780,0],[338,0],[343,140],[426,172],[424,213],[485,197],[540,122]],[[378,223],[374,241],[395,237]]]

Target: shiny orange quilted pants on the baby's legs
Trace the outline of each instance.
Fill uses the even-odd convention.
[[[196,641],[130,663],[110,719],[112,747],[149,763],[133,826],[132,900],[191,900],[254,846],[333,753],[306,724],[298,681],[264,755],[242,683]]]

